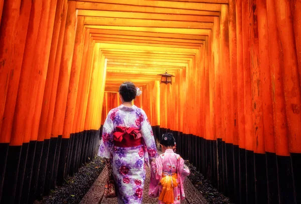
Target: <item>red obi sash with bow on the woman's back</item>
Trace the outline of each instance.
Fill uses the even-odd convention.
[[[116,126],[113,133],[114,145],[119,147],[131,147],[143,144],[140,130],[135,127]]]

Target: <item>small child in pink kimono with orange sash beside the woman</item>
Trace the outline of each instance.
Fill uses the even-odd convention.
[[[177,204],[185,199],[183,182],[190,172],[184,159],[173,150],[176,142],[172,133],[163,134],[160,143],[164,153],[152,161],[148,195],[159,195],[160,204]]]

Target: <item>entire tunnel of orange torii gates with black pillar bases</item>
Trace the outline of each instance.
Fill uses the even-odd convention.
[[[300,21],[300,0],[0,0],[1,203],[89,162],[126,80],[233,202],[301,203]]]

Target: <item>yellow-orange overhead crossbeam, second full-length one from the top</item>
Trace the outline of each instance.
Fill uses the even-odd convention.
[[[214,16],[219,12],[203,11],[199,15],[183,15],[175,13],[146,13],[146,12],[126,12],[108,10],[84,10],[79,9],[78,15],[94,17],[116,17],[116,18],[138,18],[138,19],[157,19],[157,20],[179,20],[196,22],[214,22]],[[210,15],[211,14],[211,15]]]

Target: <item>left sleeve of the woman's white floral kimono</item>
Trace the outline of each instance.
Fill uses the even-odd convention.
[[[111,148],[113,146],[114,124],[110,118],[110,112],[102,127],[102,138],[97,155],[105,158],[111,157]]]

